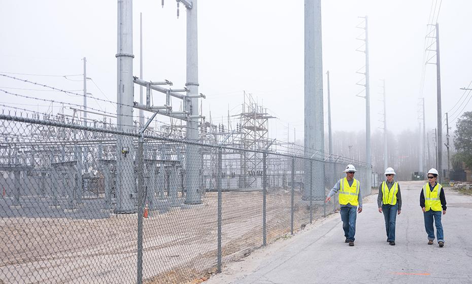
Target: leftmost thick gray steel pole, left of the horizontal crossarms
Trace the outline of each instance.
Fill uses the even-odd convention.
[[[118,0],[117,40],[117,121],[118,131],[133,130],[133,32],[132,0]],[[132,137],[117,135],[116,209],[118,213],[136,212],[137,196],[133,169]]]

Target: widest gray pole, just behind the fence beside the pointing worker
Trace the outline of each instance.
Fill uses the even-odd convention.
[[[323,65],[321,45],[321,0],[305,0],[305,156],[324,153]],[[313,161],[317,178],[310,189],[305,187],[303,199],[324,199],[324,164]],[[310,160],[305,161],[305,181],[310,181]]]

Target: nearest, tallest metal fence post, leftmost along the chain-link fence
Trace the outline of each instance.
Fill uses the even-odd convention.
[[[144,134],[141,133],[138,141],[138,260],[137,270],[138,279],[137,283],[143,283],[143,145],[144,145]]]

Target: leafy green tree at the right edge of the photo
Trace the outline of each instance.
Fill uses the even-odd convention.
[[[467,167],[472,167],[472,112],[465,112],[457,121],[454,131],[455,161],[464,162]]]

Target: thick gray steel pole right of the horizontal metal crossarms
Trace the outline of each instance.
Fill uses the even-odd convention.
[[[192,1],[192,9],[187,9],[187,83],[185,86],[188,95],[198,95],[198,37],[197,37],[197,0]],[[187,120],[187,139],[198,140],[198,98],[193,97],[185,101],[186,111],[190,113]],[[187,175],[186,204],[200,204],[199,178],[200,178],[200,155],[198,147],[187,145],[185,151],[185,164]]]

